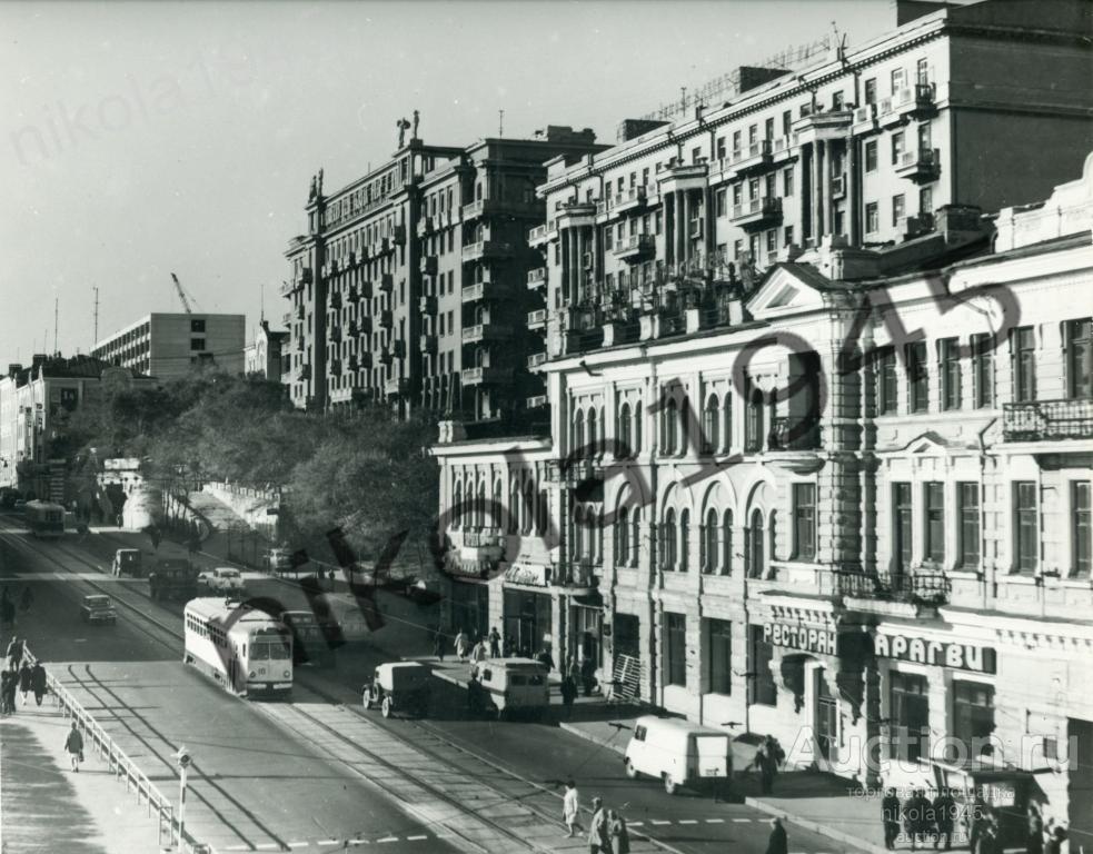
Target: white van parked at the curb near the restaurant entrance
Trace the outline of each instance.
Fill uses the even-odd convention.
[[[626,745],[626,776],[648,774],[675,794],[679,786],[727,788],[733,776],[733,742],[728,733],[688,721],[645,715],[634,724]]]

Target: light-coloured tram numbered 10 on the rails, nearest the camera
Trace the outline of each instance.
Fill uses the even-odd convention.
[[[240,697],[288,696],[292,633],[266,612],[220,598],[190,599],[182,661]]]

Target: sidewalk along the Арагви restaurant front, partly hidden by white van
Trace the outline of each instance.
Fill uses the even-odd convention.
[[[575,721],[563,723],[562,728],[622,754],[634,721],[634,716]],[[737,772],[754,758],[755,745],[733,742],[733,766]],[[737,795],[744,795],[747,806],[783,816],[799,827],[871,854],[888,854],[884,847],[880,798],[853,794],[856,786],[851,781],[813,771],[784,771],[775,781],[773,795],[759,795],[755,773],[737,773],[733,786]],[[903,847],[910,851],[910,846]]]

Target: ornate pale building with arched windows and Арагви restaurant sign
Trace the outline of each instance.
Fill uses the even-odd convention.
[[[714,327],[563,354],[550,439],[446,425],[451,619],[795,765],[1093,831],[1093,156],[986,226],[942,209],[901,272],[827,238]]]

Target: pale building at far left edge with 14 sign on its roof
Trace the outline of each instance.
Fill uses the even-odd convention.
[[[89,356],[40,354],[28,367],[9,365],[0,377],[0,486],[52,500],[70,497],[64,475],[69,460],[57,448],[57,439],[64,438],[64,419],[101,395],[103,386],[152,384]]]

